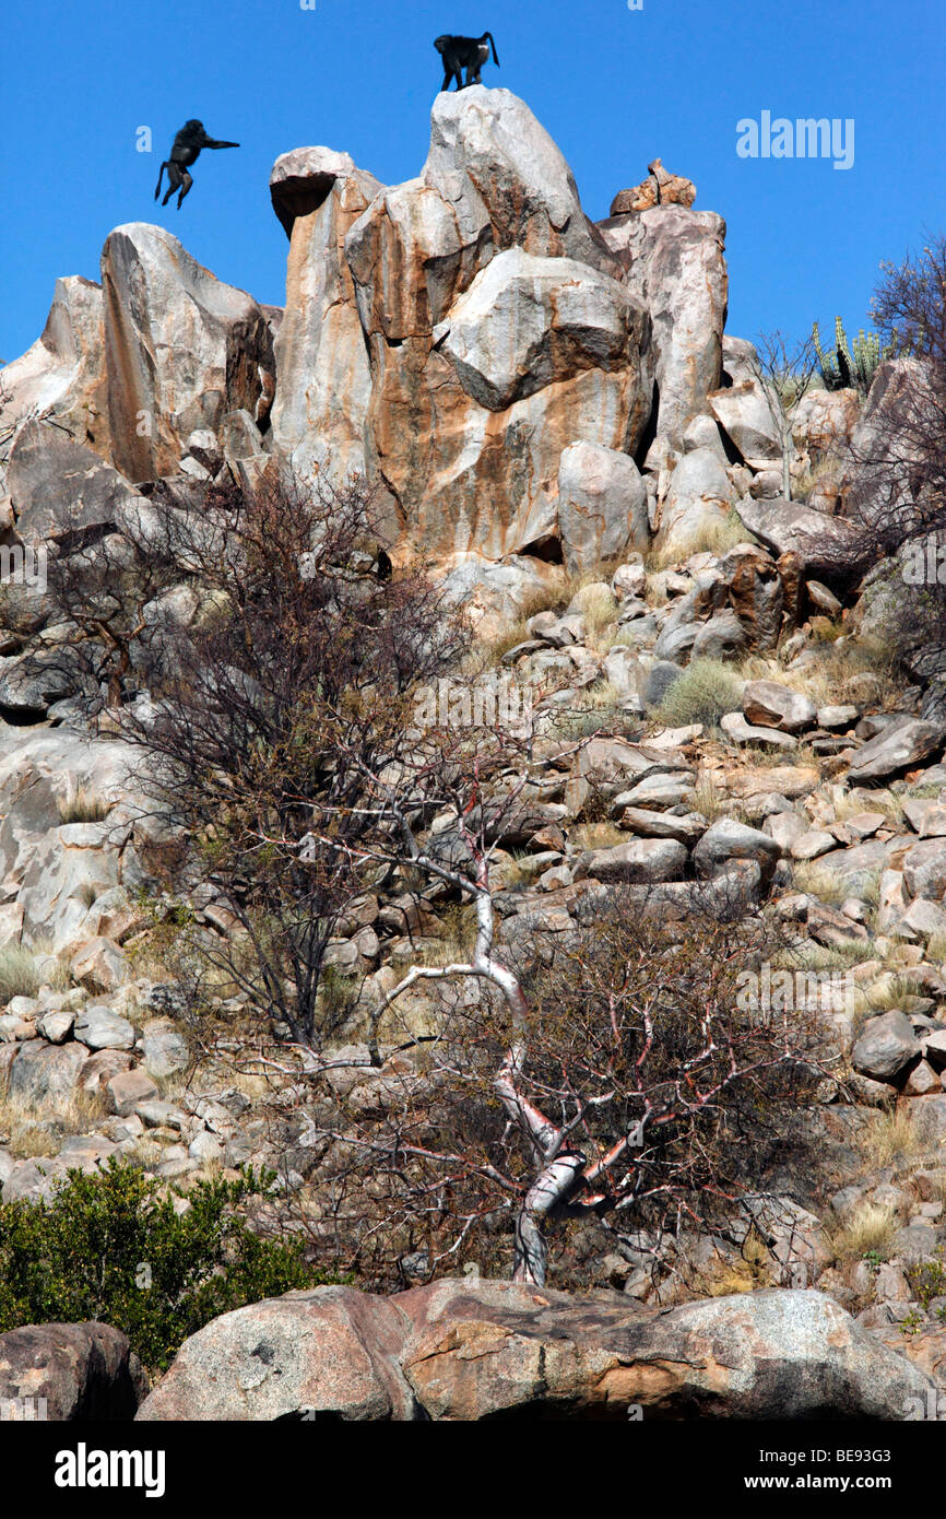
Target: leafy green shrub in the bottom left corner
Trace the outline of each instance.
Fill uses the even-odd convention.
[[[153,1177],[112,1156],[97,1174],[70,1171],[49,1203],[0,1205],[0,1332],[94,1318],[161,1372],[219,1314],[319,1285],[301,1243],[261,1240],[237,1212],[273,1180],[244,1168],[196,1182],[178,1214]]]

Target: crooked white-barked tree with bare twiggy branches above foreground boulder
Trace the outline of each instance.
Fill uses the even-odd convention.
[[[510,917],[498,945],[490,860],[527,805],[528,767],[490,801],[459,761],[454,750],[442,787],[453,825],[427,842],[398,788],[372,778],[395,825],[387,858],[459,893],[475,931],[469,954],[412,965],[372,1009],[363,1063],[383,1072],[387,1101],[381,1116],[316,1124],[336,1157],[323,1191],[361,1258],[422,1246],[430,1271],[504,1215],[513,1279],[541,1285],[548,1227],[563,1218],[618,1215],[679,1235],[732,1214],[765,1116],[799,1101],[815,1039],[794,1013],[741,1010],[738,972],[773,940],[735,878],[694,884],[688,925],[667,924],[659,893],[598,887],[585,925],[547,936],[525,919],[516,934]],[[412,989],[463,981],[480,987],[472,1006],[448,1000],[439,1033],[418,1037],[407,1019],[396,1037],[392,1013]],[[398,1063],[412,1048],[421,1068]],[[305,1068],[317,1080],[351,1063]]]

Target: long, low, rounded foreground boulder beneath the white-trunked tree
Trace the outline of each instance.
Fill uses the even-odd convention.
[[[919,1367],[815,1291],[662,1311],[615,1293],[442,1281],[255,1303],[181,1347],[138,1411],[167,1419],[911,1417]]]

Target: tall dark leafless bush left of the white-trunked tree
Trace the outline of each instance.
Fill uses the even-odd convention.
[[[374,884],[364,776],[396,767],[415,685],[462,623],[422,574],[392,574],[372,494],[275,469],[202,512],[153,500],[120,530],[61,539],[52,591],[140,785],[181,840],[181,890],[232,931],[217,971],[319,1042],[326,946]],[[422,797],[421,797],[422,801]]]

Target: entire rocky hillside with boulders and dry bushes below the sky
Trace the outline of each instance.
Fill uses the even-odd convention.
[[[592,223],[507,90],[440,94],[405,184],[298,147],[269,188],[284,308],[132,222],[0,369],[0,1183],[114,1161],[187,1214],[266,1168],[241,1217],[325,1285],[147,1397],[121,1323],[64,1391],[0,1296],[0,1399],[49,1361],[62,1419],[914,1417],[925,365],[767,368],[695,187]]]

